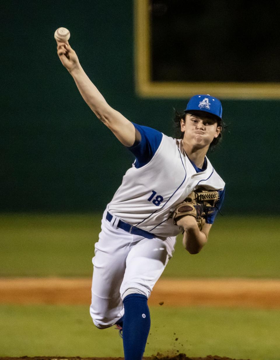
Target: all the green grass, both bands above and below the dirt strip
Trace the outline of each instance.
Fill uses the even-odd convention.
[[[101,215],[0,215],[0,276],[90,277],[100,220]],[[219,216],[200,254],[189,255],[178,238],[163,277],[280,278],[279,220]],[[178,350],[280,360],[280,310],[150,310],[146,356]],[[117,330],[96,329],[88,306],[6,304],[0,305],[0,319],[0,356],[123,354]]]

